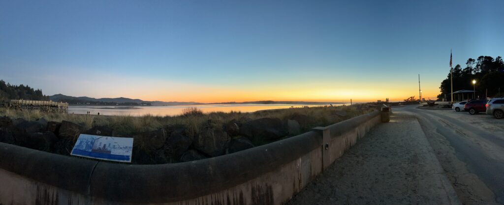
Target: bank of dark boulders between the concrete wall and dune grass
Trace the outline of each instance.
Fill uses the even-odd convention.
[[[345,111],[333,109],[330,112],[332,114],[329,119],[299,113],[282,119],[241,117],[225,123],[222,120],[208,119],[197,126],[198,130],[183,124],[173,124],[131,134],[116,132],[107,126],[85,129],[82,123],[66,120],[56,122],[40,118],[27,121],[4,116],[0,117],[0,142],[70,156],[80,134],[133,137],[133,164],[177,163],[238,152],[298,135],[314,125],[329,125],[353,117]],[[200,120],[205,118],[193,117]],[[110,121],[112,118],[109,116],[105,119]]]

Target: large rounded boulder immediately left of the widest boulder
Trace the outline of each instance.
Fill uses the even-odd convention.
[[[199,133],[194,140],[194,147],[212,157],[223,155],[230,137],[217,126],[210,126]]]

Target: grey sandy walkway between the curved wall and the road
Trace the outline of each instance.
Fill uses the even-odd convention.
[[[420,124],[395,112],[289,204],[459,204]]]

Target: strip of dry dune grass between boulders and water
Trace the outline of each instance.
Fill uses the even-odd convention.
[[[28,121],[45,119],[47,121],[70,121],[81,125],[84,129],[93,126],[106,126],[114,130],[115,136],[128,137],[145,131],[157,130],[167,126],[180,126],[187,129],[187,134],[195,136],[202,130],[202,126],[211,121],[217,125],[224,125],[231,120],[245,122],[259,118],[289,119],[293,115],[304,115],[309,118],[309,124],[301,126],[301,132],[306,132],[312,127],[328,126],[340,121],[371,112],[373,107],[368,104],[339,107],[305,107],[278,110],[265,110],[253,113],[242,112],[211,112],[203,113],[196,108],[183,110],[178,116],[154,116],[144,115],[140,117],[124,116],[97,116],[81,114],[58,114],[45,113],[37,110],[12,110],[0,108],[0,116],[8,116],[14,119],[22,118]],[[344,111],[346,115],[336,115]]]

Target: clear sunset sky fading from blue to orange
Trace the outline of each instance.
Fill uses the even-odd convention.
[[[435,98],[504,55],[504,1],[6,1],[0,79],[143,100]]]

